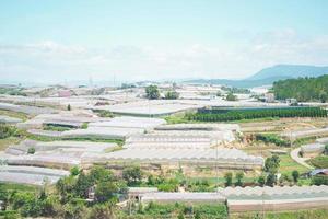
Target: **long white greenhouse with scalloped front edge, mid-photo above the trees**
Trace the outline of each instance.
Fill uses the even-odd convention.
[[[207,164],[222,169],[261,169],[261,157],[248,155],[237,149],[134,149],[106,154],[84,154],[84,162],[140,162],[166,164]]]

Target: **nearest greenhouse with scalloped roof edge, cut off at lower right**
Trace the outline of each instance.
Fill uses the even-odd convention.
[[[296,210],[328,205],[328,186],[227,187],[218,192],[226,197],[231,211]]]

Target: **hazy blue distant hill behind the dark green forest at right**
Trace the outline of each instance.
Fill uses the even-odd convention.
[[[298,78],[298,77],[319,77],[328,74],[327,67],[304,66],[304,65],[277,65],[265,68],[254,76],[244,80],[227,80],[227,79],[195,79],[185,81],[186,83],[211,83],[225,84],[239,88],[251,88],[272,84],[274,81]]]

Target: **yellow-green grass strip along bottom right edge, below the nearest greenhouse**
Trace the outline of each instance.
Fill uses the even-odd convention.
[[[238,212],[231,214],[231,219],[254,219],[262,218],[262,212]],[[328,209],[308,209],[308,210],[295,210],[295,211],[281,211],[281,212],[265,212],[266,219],[325,219],[328,218]]]

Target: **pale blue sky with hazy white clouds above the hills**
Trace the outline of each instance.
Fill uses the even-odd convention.
[[[0,0],[0,81],[247,78],[328,66],[327,0]]]

